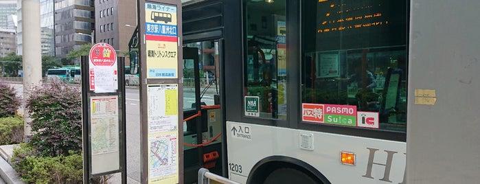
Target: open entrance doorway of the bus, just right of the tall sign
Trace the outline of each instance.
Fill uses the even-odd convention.
[[[222,174],[218,41],[183,47],[184,181],[195,183],[198,169]]]

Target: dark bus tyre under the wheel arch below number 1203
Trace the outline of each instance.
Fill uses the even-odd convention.
[[[317,181],[312,179],[299,170],[293,168],[279,168],[271,172],[264,181],[264,184],[273,184],[273,183],[302,183],[302,184],[315,184]]]

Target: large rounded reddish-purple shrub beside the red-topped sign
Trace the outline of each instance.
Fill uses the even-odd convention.
[[[30,90],[25,108],[32,122],[34,149],[43,156],[82,150],[82,95],[79,89],[53,82]]]

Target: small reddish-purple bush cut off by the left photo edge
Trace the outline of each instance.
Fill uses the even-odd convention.
[[[0,117],[12,117],[21,104],[20,97],[10,85],[0,82]]]

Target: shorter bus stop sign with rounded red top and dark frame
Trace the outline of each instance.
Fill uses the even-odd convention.
[[[126,183],[125,60],[106,43],[81,60],[83,182],[122,172]]]

